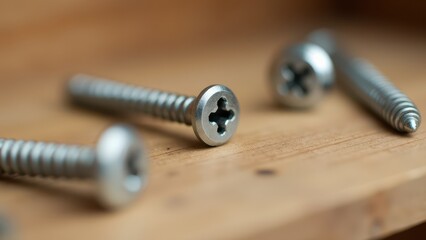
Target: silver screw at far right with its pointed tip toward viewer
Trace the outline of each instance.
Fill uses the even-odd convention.
[[[374,66],[349,57],[326,30],[313,32],[309,39],[330,54],[345,76],[341,83],[357,99],[400,132],[412,133],[418,129],[421,115],[416,105]]]

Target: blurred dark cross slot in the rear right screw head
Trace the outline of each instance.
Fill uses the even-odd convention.
[[[304,82],[306,77],[311,73],[307,65],[296,68],[290,63],[284,66],[281,71],[283,78],[287,80],[283,86],[285,92],[296,92],[302,96],[309,93],[309,89]]]

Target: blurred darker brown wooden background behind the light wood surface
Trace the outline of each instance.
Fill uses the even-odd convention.
[[[31,69],[78,68],[110,56],[166,52],[334,16],[404,23],[424,31],[425,5],[384,0],[1,1],[0,73],[12,79]]]

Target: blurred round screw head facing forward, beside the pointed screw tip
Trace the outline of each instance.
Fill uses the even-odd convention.
[[[321,47],[299,44],[277,56],[270,79],[280,104],[306,108],[315,105],[332,86],[334,67],[330,56]]]

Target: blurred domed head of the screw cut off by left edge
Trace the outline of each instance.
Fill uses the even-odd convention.
[[[130,203],[147,181],[148,159],[136,131],[114,125],[102,134],[96,151],[99,201],[110,209]]]

